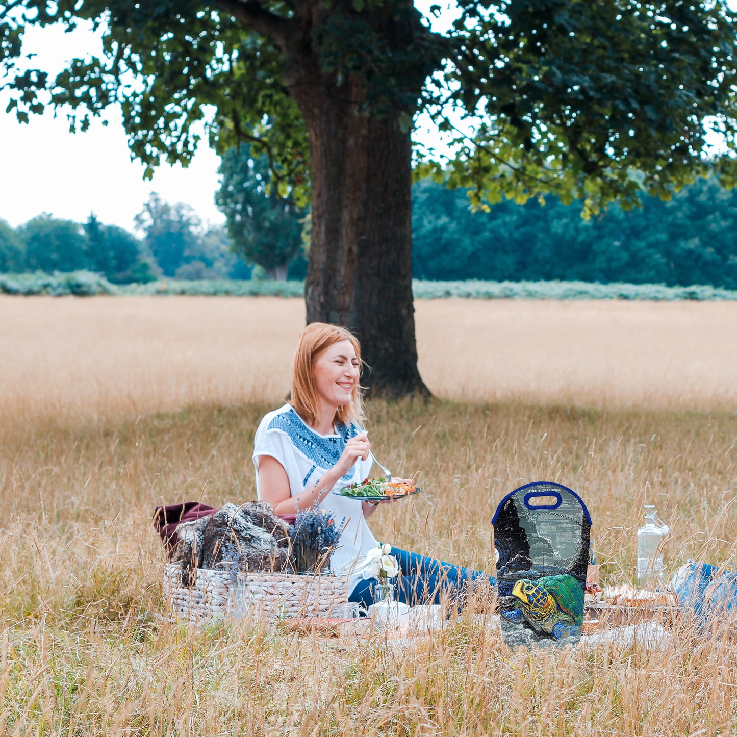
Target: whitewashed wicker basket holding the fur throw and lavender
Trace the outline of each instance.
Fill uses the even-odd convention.
[[[198,623],[232,615],[276,621],[335,615],[348,601],[348,578],[294,573],[238,573],[199,568],[192,586],[181,583],[181,568],[164,565],[164,600],[175,619]]]

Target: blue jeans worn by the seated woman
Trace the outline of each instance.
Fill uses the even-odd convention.
[[[478,579],[486,579],[494,587],[497,585],[494,576],[486,576],[481,570],[469,570],[399,548],[391,548],[390,555],[395,556],[399,563],[399,576],[389,579],[389,583],[396,584],[394,598],[411,607],[417,604],[440,604],[444,597],[461,603],[472,581]],[[348,600],[363,607],[371,606],[377,582],[377,579],[358,581]]]

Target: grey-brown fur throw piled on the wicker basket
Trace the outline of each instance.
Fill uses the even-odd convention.
[[[193,568],[283,570],[289,561],[289,525],[265,502],[226,504],[210,517],[179,525],[172,562],[189,585]]]

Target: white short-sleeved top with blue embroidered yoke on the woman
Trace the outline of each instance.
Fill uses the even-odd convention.
[[[311,486],[338,463],[346,441],[363,432],[357,425],[336,425],[335,433],[320,435],[298,415],[292,405],[284,405],[269,412],[259,423],[254,439],[254,465],[256,466],[256,494],[259,499],[259,455],[276,458],[287,472],[291,495],[294,497]],[[346,484],[363,481],[371,471],[371,458],[358,460],[352,469],[330,490],[319,509],[331,511],[335,524],[345,528],[340,537],[340,547],[333,553],[332,570],[338,572],[362,558],[377,541],[363,517],[361,502],[333,494]],[[349,591],[363,579],[360,574],[351,576]]]

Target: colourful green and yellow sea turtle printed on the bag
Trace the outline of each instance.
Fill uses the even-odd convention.
[[[556,640],[581,635],[584,592],[573,576],[543,576],[537,581],[520,579],[511,590],[515,608],[502,612],[510,622],[527,621],[537,632]]]

